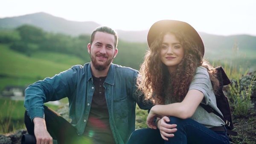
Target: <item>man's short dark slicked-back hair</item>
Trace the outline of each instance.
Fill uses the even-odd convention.
[[[90,44],[93,43],[93,40],[94,40],[94,35],[96,32],[105,32],[105,33],[108,33],[108,34],[111,34],[111,35],[114,35],[115,36],[115,49],[117,47],[117,43],[118,43],[118,36],[117,36],[117,32],[114,31],[113,29],[111,29],[110,27],[108,26],[99,26],[98,28],[96,28],[91,37],[90,37]]]

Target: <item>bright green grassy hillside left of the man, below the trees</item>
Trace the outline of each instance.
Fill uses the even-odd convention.
[[[76,56],[52,52],[35,52],[27,57],[0,44],[0,89],[6,85],[32,84],[84,63]]]

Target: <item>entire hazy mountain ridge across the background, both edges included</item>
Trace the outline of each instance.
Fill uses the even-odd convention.
[[[67,35],[90,35],[91,32],[100,24],[95,22],[77,22],[65,20],[64,18],[55,17],[51,14],[39,12],[35,14],[27,14],[19,17],[6,17],[0,19],[0,30],[3,29],[15,29],[17,26],[23,24],[31,24],[37,27],[41,27],[48,32],[59,32]],[[119,39],[127,42],[139,42],[146,43],[148,30],[144,31],[123,31],[116,30],[119,34]],[[233,35],[233,36],[219,36],[210,35],[207,33],[199,32],[206,49],[206,55],[215,53],[217,55],[221,50],[227,50],[227,53],[223,55],[232,55],[233,46],[236,44],[238,51],[247,53],[247,55],[255,54],[256,52],[256,37],[250,35]],[[236,49],[236,50],[237,50]],[[254,57],[254,55],[253,55]]]

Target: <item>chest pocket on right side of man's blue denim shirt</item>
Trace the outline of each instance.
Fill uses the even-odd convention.
[[[114,100],[114,109],[115,109],[116,118],[127,118],[128,116],[127,95],[123,98]]]

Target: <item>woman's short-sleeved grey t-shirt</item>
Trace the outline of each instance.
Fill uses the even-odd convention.
[[[212,84],[209,78],[209,74],[207,72],[207,69],[204,68],[203,66],[199,66],[196,69],[196,74],[194,77],[194,80],[191,82],[189,86],[190,89],[197,89],[204,94],[204,99],[201,101],[202,104],[209,105],[213,109],[216,110],[220,115],[221,112],[217,107],[216,104],[216,98],[213,93],[212,89]],[[165,98],[165,104],[171,104],[172,102],[168,99]],[[200,124],[203,124],[205,127],[210,128],[210,127],[219,127],[223,126],[224,121],[222,121],[221,118],[219,118],[217,115],[214,113],[208,113],[204,108],[202,108],[200,105],[198,108],[195,110],[194,115],[192,115],[191,119],[199,122]]]

